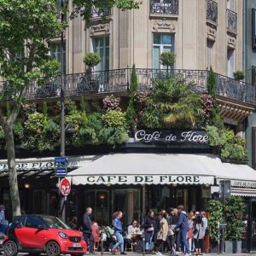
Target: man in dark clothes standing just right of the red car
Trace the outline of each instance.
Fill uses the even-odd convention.
[[[89,252],[94,254],[94,239],[93,239],[92,230],[91,230],[91,213],[92,213],[91,207],[87,207],[84,213],[83,237],[84,237],[84,241],[87,243],[87,246],[89,244]]]

